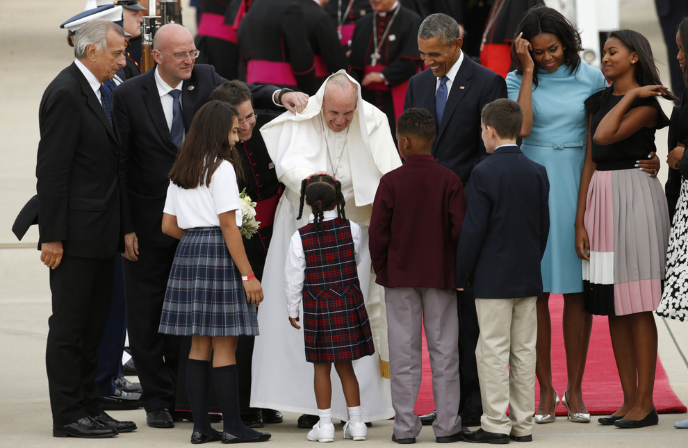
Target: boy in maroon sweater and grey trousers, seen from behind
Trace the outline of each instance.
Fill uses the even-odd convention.
[[[415,442],[421,378],[421,322],[432,367],[437,442],[461,438],[459,322],[454,263],[466,199],[461,180],[430,155],[432,115],[411,108],[397,122],[404,165],[380,180],[370,218],[370,256],[384,286],[391,368],[392,440]]]

